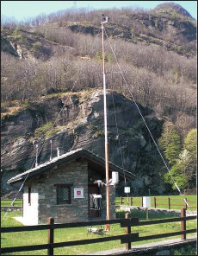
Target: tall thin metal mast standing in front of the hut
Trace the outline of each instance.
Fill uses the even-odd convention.
[[[110,198],[108,184],[108,122],[107,122],[107,99],[106,99],[106,78],[105,78],[105,54],[104,54],[104,24],[108,22],[108,16],[103,16],[102,24],[102,66],[103,66],[103,97],[104,97],[104,135],[105,135],[105,170],[106,170],[106,204],[107,204],[107,220],[110,220]],[[105,229],[110,230],[110,225],[107,224]]]

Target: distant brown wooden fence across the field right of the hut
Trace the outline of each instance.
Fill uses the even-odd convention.
[[[139,198],[139,200],[137,200],[135,197],[133,196],[129,196],[129,197],[120,197],[121,201],[120,202],[116,202],[116,204],[121,204],[121,205],[130,205],[130,206],[141,206],[143,207],[143,196]],[[181,207],[181,208],[189,208],[188,207],[188,203],[191,202],[196,202],[193,200],[188,200],[188,198],[185,198],[185,201],[183,200],[183,204],[175,204],[171,201],[175,201],[176,199],[171,199],[170,197],[166,197],[164,199],[158,199],[156,196],[151,197],[151,199],[153,200],[151,203],[153,204],[153,208],[158,208],[161,206],[165,206],[168,207],[169,209],[174,209],[175,206],[177,207]],[[162,203],[163,202],[163,203]],[[190,208],[195,208],[195,207],[191,207]]]

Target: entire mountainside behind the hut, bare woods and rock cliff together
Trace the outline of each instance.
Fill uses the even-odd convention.
[[[171,122],[184,142],[196,126],[196,22],[171,3],[105,15],[107,86],[114,92],[108,93],[110,161],[121,166],[120,138],[124,167],[137,175],[133,195],[148,188],[163,193],[164,167],[133,99],[156,140]],[[65,11],[29,25],[3,25],[3,189],[10,176],[31,168],[35,144],[44,139],[40,163],[49,158],[50,139],[53,157],[57,147],[61,153],[84,147],[103,157],[101,17],[101,10]]]

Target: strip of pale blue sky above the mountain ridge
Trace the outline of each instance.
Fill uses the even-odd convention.
[[[1,15],[23,20],[41,13],[49,14],[74,7],[107,9],[127,6],[153,9],[159,3],[179,3],[190,15],[197,19],[197,1],[1,1]]]

